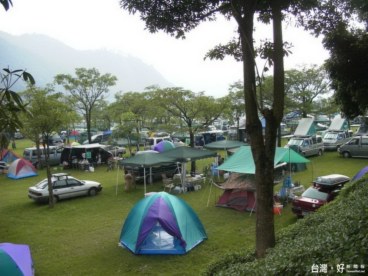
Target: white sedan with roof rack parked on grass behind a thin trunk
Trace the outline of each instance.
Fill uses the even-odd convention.
[[[102,190],[102,185],[96,181],[78,180],[67,173],[56,173],[51,175],[54,202],[60,199],[88,195],[93,197]],[[47,178],[34,187],[28,188],[28,197],[39,202],[49,202]]]

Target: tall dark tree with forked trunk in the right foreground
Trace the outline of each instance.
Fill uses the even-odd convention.
[[[287,3],[286,3],[287,2]],[[217,14],[233,17],[238,24],[240,47],[234,47],[236,58],[243,62],[246,127],[250,132],[251,150],[255,160],[257,184],[256,253],[263,256],[268,247],[275,245],[273,226],[273,159],[276,133],[283,116],[284,78],[282,10],[289,1],[142,1],[122,0],[121,7],[130,13],[139,11],[150,32],[163,30],[176,38],[185,38],[185,32],[202,21],[215,20]],[[285,4],[286,6],[282,6]],[[273,44],[269,49],[274,68],[274,102],[263,107],[256,96],[255,49],[253,45],[254,16],[259,12],[264,21],[273,19]],[[220,57],[221,58],[221,57]],[[263,142],[259,113],[266,118],[266,139]]]

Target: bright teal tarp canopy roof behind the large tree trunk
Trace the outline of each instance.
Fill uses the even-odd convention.
[[[298,155],[290,148],[276,148],[274,164],[279,162],[287,163],[306,163],[308,159]],[[255,164],[250,146],[241,146],[223,164],[217,167],[223,171],[233,171],[236,173],[255,173]]]

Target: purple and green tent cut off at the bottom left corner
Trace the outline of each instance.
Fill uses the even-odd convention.
[[[29,245],[0,244],[0,275],[35,275]]]

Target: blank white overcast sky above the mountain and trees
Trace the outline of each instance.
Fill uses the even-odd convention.
[[[232,57],[222,61],[203,60],[205,53],[219,43],[226,44],[236,34],[235,22],[219,16],[216,22],[204,22],[177,40],[163,32],[144,30],[139,15],[129,15],[118,0],[13,0],[7,12],[0,7],[0,30],[12,35],[40,33],[60,40],[77,50],[112,50],[138,57],[152,65],[167,81],[193,92],[221,97],[229,85],[242,79],[243,69]],[[272,38],[271,26],[257,24],[256,46],[260,39]],[[321,38],[313,38],[301,28],[287,27],[283,40],[291,42],[293,54],[285,70],[297,64],[321,65],[328,58]],[[259,63],[258,66],[263,66]]]

